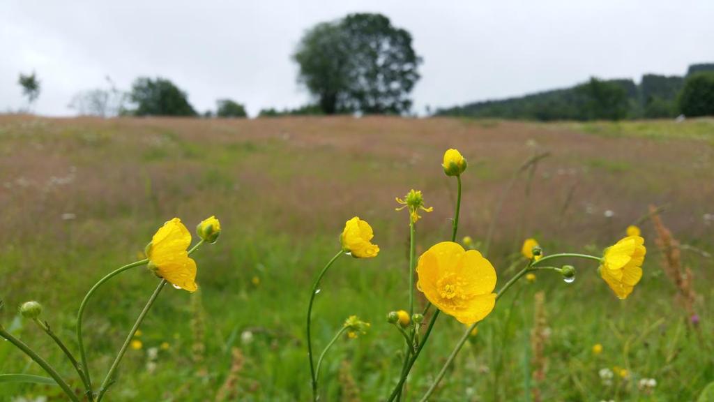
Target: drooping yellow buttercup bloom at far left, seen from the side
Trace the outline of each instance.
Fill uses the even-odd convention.
[[[149,268],[156,275],[181,289],[194,292],[196,285],[196,261],[188,257],[191,233],[181,220],[175,217],[156,232],[146,247]]]

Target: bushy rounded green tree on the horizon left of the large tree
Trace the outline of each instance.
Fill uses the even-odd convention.
[[[168,79],[140,77],[134,81],[129,94],[136,116],[196,116],[186,96]]]

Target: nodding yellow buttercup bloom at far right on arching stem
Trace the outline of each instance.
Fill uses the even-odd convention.
[[[605,250],[600,260],[600,276],[618,298],[627,298],[640,282],[646,253],[645,240],[639,236],[625,237]]]

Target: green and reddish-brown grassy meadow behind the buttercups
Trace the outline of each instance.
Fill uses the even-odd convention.
[[[596,264],[581,260],[573,261],[574,283],[547,272],[517,283],[432,400],[526,401],[537,390],[543,401],[693,401],[714,381],[713,139],[713,120],[0,116],[0,299],[6,303],[0,323],[79,389],[56,346],[21,320],[16,306],[41,302],[44,319],[76,350],[76,309],[96,280],[144,258],[151,235],[171,217],[192,229],[216,215],[220,240],[194,255],[200,292],[164,290],[141,325],[142,347],[129,350],[105,401],[217,401],[231,372],[235,397],[226,400],[308,401],[304,320],[311,283],[339,250],[344,222],[359,215],[373,226],[381,253],[341,258],[328,272],[313,312],[316,348],[349,315],[372,325],[366,335],[336,343],[321,373],[321,400],[385,400],[403,353],[385,316],[406,308],[408,295],[408,220],[394,211],[394,197],[415,188],[434,207],[418,222],[418,253],[447,240],[456,186],[443,175],[441,157],[456,147],[469,161],[459,237],[483,245],[493,224],[488,258],[497,287],[513,275],[508,268],[524,238],[537,238],[545,253],[599,255],[656,205],[683,244],[699,323],[691,325],[676,301],[645,220],[645,273],[630,298],[615,298]],[[512,179],[540,152],[549,154]],[[84,332],[95,382],[156,283],[145,268],[129,270],[90,305]],[[534,307],[539,291],[540,309]],[[534,358],[531,347],[534,310],[540,310],[543,358]],[[423,395],[463,329],[447,315],[439,318],[406,400]],[[596,343],[603,345],[600,354],[592,351]],[[600,375],[605,368],[614,370],[613,378]],[[625,378],[616,368],[627,370]],[[534,371],[543,378],[534,379]],[[0,373],[42,374],[8,342],[0,342]],[[640,386],[646,378],[656,386]],[[0,401],[37,396],[63,400],[56,386],[0,384]]]

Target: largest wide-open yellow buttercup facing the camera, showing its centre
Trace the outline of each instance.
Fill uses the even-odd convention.
[[[486,318],[496,304],[496,270],[476,250],[440,242],[419,257],[416,287],[436,307],[461,323]]]

